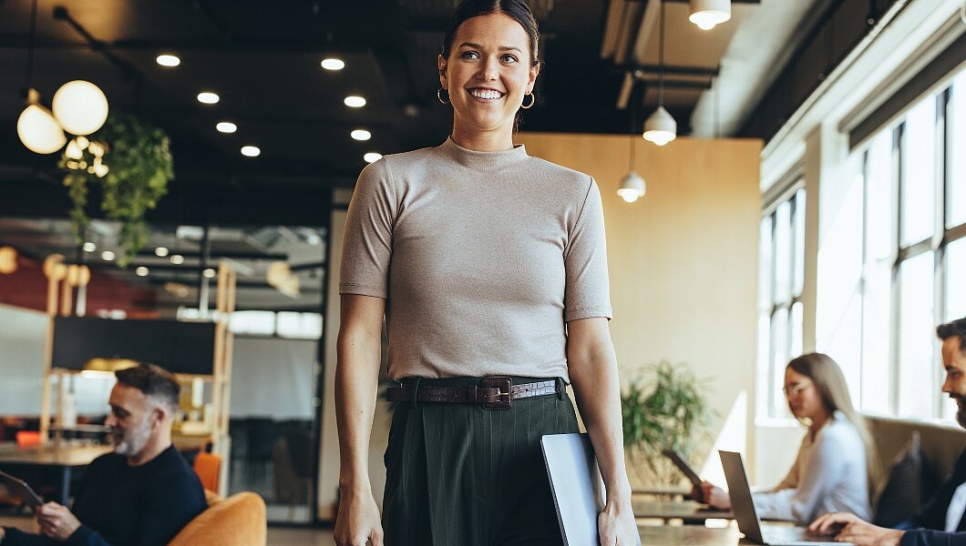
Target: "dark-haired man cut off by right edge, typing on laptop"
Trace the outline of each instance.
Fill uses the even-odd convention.
[[[966,317],[942,324],[936,335],[943,341],[946,382],[943,392],[956,401],[956,421],[966,428]],[[915,516],[897,529],[883,529],[847,512],[821,516],[810,525],[813,532],[840,531],[839,541],[858,546],[966,546],[966,451],[939,490]]]

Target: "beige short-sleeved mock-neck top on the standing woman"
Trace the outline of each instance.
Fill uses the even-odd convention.
[[[526,154],[440,147],[362,170],[341,294],[385,298],[392,379],[560,376],[565,322],[611,318],[600,191]]]

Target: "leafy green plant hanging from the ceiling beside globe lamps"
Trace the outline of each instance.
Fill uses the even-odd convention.
[[[164,131],[130,114],[112,114],[90,139],[68,144],[58,164],[68,171],[64,185],[73,204],[71,228],[78,245],[91,219],[87,214],[91,184],[101,189],[100,209],[121,222],[118,265],[125,267],[148,242],[145,213],[155,208],[174,177],[170,141]]]

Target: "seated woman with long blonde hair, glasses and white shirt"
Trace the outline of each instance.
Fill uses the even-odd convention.
[[[771,491],[753,494],[758,515],[798,525],[835,511],[869,519],[871,443],[838,364],[821,353],[802,355],[785,368],[782,391],[792,415],[809,431],[781,483]],[[731,507],[728,494],[707,481],[694,495],[717,508]]]

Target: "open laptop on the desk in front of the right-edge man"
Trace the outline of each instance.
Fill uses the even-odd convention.
[[[754,509],[752,487],[748,484],[748,474],[745,473],[745,463],[741,453],[722,450],[718,453],[725,468],[731,509],[734,511],[734,518],[738,520],[738,531],[744,533],[745,538],[767,546],[826,546],[830,542],[849,544],[836,542],[834,535],[811,534],[803,527],[768,527],[762,530],[761,519]]]

